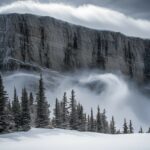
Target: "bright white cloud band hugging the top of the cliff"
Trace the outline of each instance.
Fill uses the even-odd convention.
[[[150,38],[150,21],[92,4],[73,6],[65,3],[16,1],[0,7],[0,13],[32,13],[52,16],[73,24],[100,30],[122,32],[129,36]]]

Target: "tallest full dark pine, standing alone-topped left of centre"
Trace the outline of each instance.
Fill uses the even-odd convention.
[[[49,105],[45,97],[45,89],[42,75],[39,80],[39,89],[37,93],[37,116],[36,116],[36,127],[46,128],[49,126]]]

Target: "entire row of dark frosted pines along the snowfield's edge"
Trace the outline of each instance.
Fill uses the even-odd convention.
[[[74,90],[71,91],[69,98],[66,92],[62,100],[56,98],[52,119],[50,119],[49,107],[42,75],[35,96],[31,92],[28,93],[24,87],[21,97],[18,98],[14,88],[14,97],[11,101],[0,76],[0,133],[28,131],[31,127],[61,128],[108,134],[134,133],[131,120],[127,123],[124,119],[123,129],[116,129],[114,117],[112,116],[111,121],[108,121],[106,110],[101,111],[99,106],[96,115],[94,115],[92,108],[90,115],[86,114],[82,104],[77,102]],[[143,133],[142,127],[140,127],[139,133]],[[147,133],[150,133],[150,128]]]

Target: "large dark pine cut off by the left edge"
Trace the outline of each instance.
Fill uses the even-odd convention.
[[[10,132],[13,128],[14,123],[9,110],[8,97],[0,75],[0,133]]]

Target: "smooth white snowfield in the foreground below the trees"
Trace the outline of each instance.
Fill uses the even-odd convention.
[[[150,134],[105,135],[33,128],[0,135],[0,150],[150,150]]]

